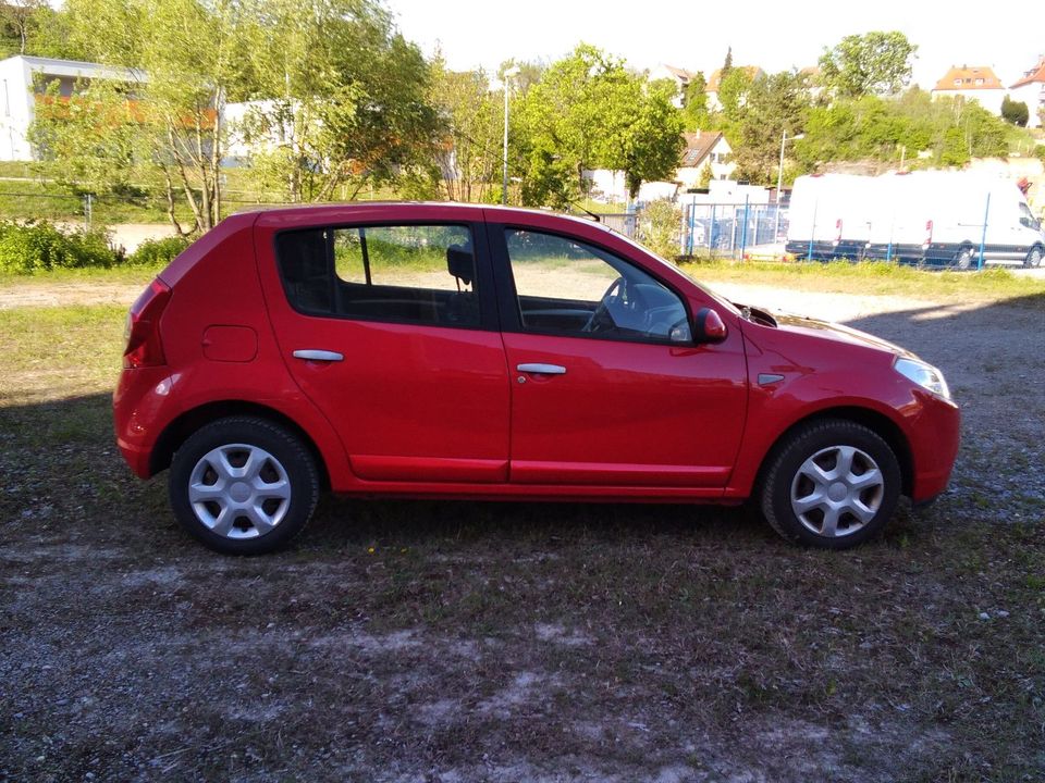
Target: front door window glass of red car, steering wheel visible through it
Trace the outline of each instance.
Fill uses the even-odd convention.
[[[678,296],[632,263],[554,234],[507,228],[519,320],[527,332],[688,341]]]

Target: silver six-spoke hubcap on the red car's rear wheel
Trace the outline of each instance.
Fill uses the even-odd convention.
[[[291,506],[291,482],[265,449],[229,444],[205,453],[188,478],[196,518],[225,538],[256,538],[275,527]]]

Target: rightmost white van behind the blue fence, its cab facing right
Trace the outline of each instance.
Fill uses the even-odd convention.
[[[927,266],[1038,266],[1045,234],[1022,191],[975,172],[878,177],[881,199],[868,257]]]

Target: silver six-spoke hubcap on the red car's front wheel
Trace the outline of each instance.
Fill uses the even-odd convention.
[[[868,524],[882,508],[885,481],[871,456],[831,446],[802,462],[791,482],[791,510],[816,535],[836,538]]]

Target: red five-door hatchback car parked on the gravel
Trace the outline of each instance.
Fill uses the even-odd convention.
[[[843,548],[947,486],[942,373],[732,304],[604,226],[367,203],[237,214],[131,309],[113,398],[185,527],[285,544],[319,493],[740,504]]]

